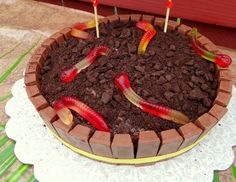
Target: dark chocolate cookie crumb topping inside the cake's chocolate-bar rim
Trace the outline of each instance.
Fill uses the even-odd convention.
[[[69,38],[50,52],[40,73],[42,95],[52,105],[62,96],[73,96],[97,111],[106,120],[111,132],[130,133],[154,130],[161,132],[180,125],[143,112],[132,105],[114,83],[125,72],[133,90],[142,98],[186,114],[195,121],[212,106],[218,81],[216,67],[197,55],[188,38],[175,30],[157,35],[143,55],[137,54],[143,31],[136,22],[100,24],[100,38]],[[95,36],[95,30],[87,31]],[[82,70],[73,82],[63,83],[59,75],[78,63],[97,46],[111,52]],[[73,112],[74,121],[93,128]]]

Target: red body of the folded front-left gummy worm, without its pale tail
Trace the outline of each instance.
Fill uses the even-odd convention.
[[[56,112],[59,112],[64,108],[69,108],[74,110],[84,119],[86,119],[89,123],[91,123],[96,129],[100,131],[107,131],[107,132],[110,131],[102,116],[99,115],[96,111],[94,111],[90,107],[88,107],[83,102],[79,101],[78,99],[65,96],[62,97],[60,101],[56,101],[54,103],[54,109]]]

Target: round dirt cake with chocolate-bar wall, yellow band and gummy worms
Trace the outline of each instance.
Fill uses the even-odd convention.
[[[100,20],[100,38],[90,21],[35,51],[26,91],[65,145],[110,163],[155,162],[192,148],[223,117],[232,81],[215,64],[222,54],[203,35],[195,40],[195,29],[169,21],[164,33],[163,24],[147,15],[111,16]]]

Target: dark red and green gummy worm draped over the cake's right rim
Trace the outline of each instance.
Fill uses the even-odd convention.
[[[192,47],[197,52],[197,54],[199,54],[204,59],[214,62],[215,64],[221,67],[228,67],[232,63],[232,59],[228,55],[214,54],[200,47],[197,43],[197,33],[197,29],[193,28],[191,32],[191,42]]]

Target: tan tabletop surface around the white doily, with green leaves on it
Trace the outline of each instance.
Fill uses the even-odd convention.
[[[4,108],[11,97],[11,87],[14,82],[22,78],[22,72],[29,60],[32,51],[26,54],[13,71],[9,68],[32,46],[38,37],[42,42],[46,36],[57,30],[70,26],[78,21],[86,21],[93,15],[84,11],[74,10],[61,6],[39,3],[27,0],[5,0],[0,2],[0,160],[6,159],[0,165],[0,181],[36,181],[33,176],[33,167],[18,161],[13,152],[14,142],[5,135],[4,125],[8,120]],[[19,34],[20,36],[16,36]],[[39,45],[38,43],[37,45]],[[37,46],[36,45],[36,46]],[[234,63],[231,66],[236,85],[236,50],[220,47],[229,54]],[[2,79],[2,75],[6,78]],[[236,149],[234,149],[236,154]],[[1,163],[1,162],[0,162]],[[234,162],[236,166],[236,161]],[[225,171],[215,173],[220,181],[234,181],[232,166]],[[234,172],[236,179],[236,172]]]

